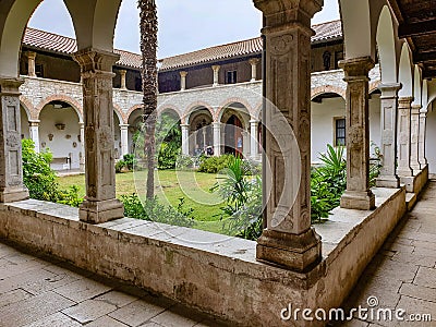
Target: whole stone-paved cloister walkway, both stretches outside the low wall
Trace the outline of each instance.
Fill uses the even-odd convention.
[[[436,316],[436,180],[374,257],[346,306]],[[433,317],[435,318],[435,317]],[[203,314],[0,243],[0,326],[221,326]],[[436,326],[352,320],[340,326]]]

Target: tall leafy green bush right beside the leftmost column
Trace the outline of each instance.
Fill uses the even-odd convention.
[[[35,152],[32,140],[23,140],[23,180],[32,198],[58,202],[60,199],[59,183],[55,171],[50,168],[52,155],[49,150]]]

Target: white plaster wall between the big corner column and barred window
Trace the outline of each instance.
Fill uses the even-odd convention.
[[[312,162],[319,162],[319,154],[335,142],[335,118],[346,117],[346,101],[341,98],[323,99],[312,104]]]

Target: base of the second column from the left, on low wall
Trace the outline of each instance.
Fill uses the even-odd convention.
[[[88,223],[102,223],[124,218],[124,206],[117,198],[98,202],[85,199],[80,206],[78,218]]]

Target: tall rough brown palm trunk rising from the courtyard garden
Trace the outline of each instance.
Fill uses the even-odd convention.
[[[155,195],[155,129],[157,108],[157,9],[155,0],[138,0],[143,64],[144,153],[147,160],[147,198]]]

